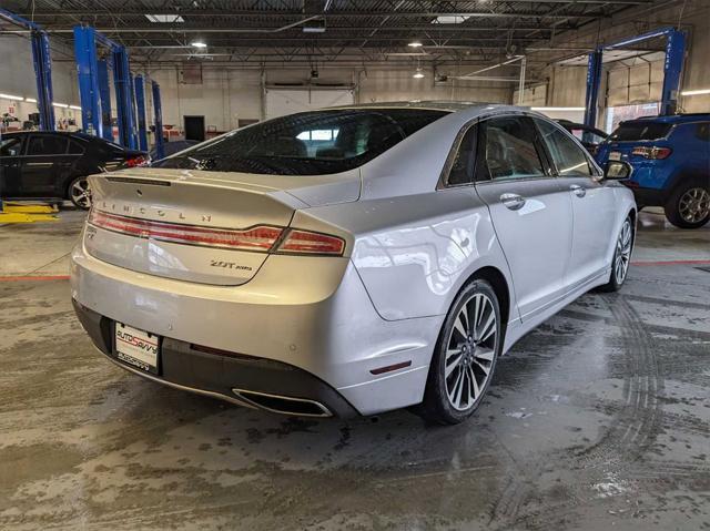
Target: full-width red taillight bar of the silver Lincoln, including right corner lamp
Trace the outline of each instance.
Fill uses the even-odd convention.
[[[262,253],[341,256],[345,241],[327,234],[287,229],[270,225],[251,228],[212,228],[180,223],[155,222],[109,214],[92,208],[88,222],[99,228],[129,236],[202,247]],[[286,232],[286,236],[282,235]],[[277,242],[281,242],[277,244]]]

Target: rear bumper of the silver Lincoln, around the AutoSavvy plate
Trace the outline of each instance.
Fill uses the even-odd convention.
[[[298,413],[254,394],[304,399],[344,417],[420,402],[443,317],[383,319],[349,261],[328,278],[333,259],[270,256],[247,284],[214,286],[116,267],[80,244],[72,298],[102,353],[173,387],[280,412]],[[115,321],[163,337],[161,374],[114,359]]]

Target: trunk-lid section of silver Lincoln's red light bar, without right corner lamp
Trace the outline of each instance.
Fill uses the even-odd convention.
[[[142,238],[163,242],[222,247],[235,251],[268,252],[283,232],[283,228],[256,226],[245,229],[210,228],[179,223],[153,222],[135,217],[118,216],[105,212],[91,211],[89,223],[106,231],[128,234]]]

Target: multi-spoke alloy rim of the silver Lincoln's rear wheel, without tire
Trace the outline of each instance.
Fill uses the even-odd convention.
[[[446,394],[458,411],[469,409],[485,390],[496,353],[498,326],[487,295],[471,295],[462,306],[446,344]]]

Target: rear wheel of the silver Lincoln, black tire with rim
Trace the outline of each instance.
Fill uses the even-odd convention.
[[[466,339],[463,338],[463,335],[458,331],[459,327],[457,326],[457,320],[464,309],[464,305],[467,305],[467,313],[464,317],[466,315],[476,315],[478,308],[485,305],[481,309],[480,323],[478,326],[474,326],[476,331],[469,334],[469,337]],[[485,340],[478,341],[485,334],[490,331],[490,327],[486,329],[483,328],[490,318],[489,312],[493,312],[495,316],[495,323],[493,325],[495,333],[493,336],[486,337]],[[471,317],[471,320],[473,319],[474,317]],[[462,319],[459,324],[464,324],[464,320]],[[466,324],[466,329],[468,333],[471,331],[468,324]],[[486,280],[471,280],[457,295],[444,320],[444,326],[439,333],[439,338],[436,343],[429,366],[424,401],[417,408],[416,412],[425,420],[439,425],[456,425],[470,417],[480,405],[493,379],[496,361],[503,348],[501,330],[500,308],[496,293]],[[474,337],[471,341],[470,339],[474,334],[479,337]],[[449,348],[454,343],[457,343],[457,345],[460,344],[460,349],[457,354],[452,355],[450,353],[456,350],[456,348]],[[446,376],[447,353],[449,353],[448,367],[454,367],[449,370],[448,378]],[[456,358],[456,356],[459,357]],[[456,359],[458,359],[458,361],[456,361]],[[471,378],[476,380],[476,384],[471,381]],[[460,384],[458,384],[459,381]],[[457,384],[460,385],[458,392]],[[453,388],[453,394],[455,395],[453,398],[449,398],[449,394],[452,392],[449,390],[450,388]],[[475,390],[478,391],[477,395]],[[462,395],[465,394],[468,394],[465,397],[467,400],[462,408]],[[459,407],[456,407],[454,404],[457,397],[459,397]]]

